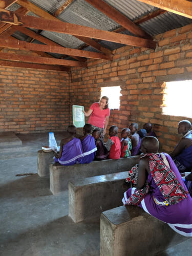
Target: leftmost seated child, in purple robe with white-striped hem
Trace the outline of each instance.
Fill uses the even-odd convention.
[[[76,134],[76,127],[69,125],[67,132],[68,134],[60,142],[60,150],[59,154],[55,155],[55,163],[61,165],[80,163],[83,158],[81,141],[73,137]]]

